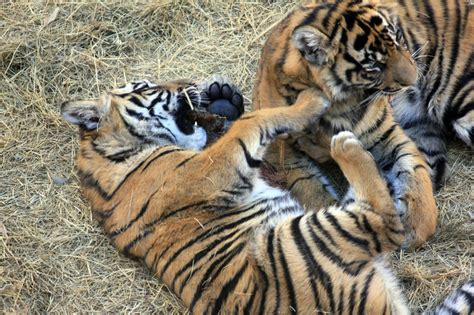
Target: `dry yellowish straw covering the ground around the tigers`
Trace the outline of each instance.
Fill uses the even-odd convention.
[[[181,313],[180,302],[110,245],[80,197],[77,131],[58,105],[138,78],[226,75],[250,101],[259,51],[288,1],[0,4],[0,309]],[[472,277],[474,161],[451,146],[439,230],[393,257],[420,311]]]

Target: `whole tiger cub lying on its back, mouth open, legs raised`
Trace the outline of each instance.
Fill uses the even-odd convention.
[[[204,86],[228,92],[206,93],[208,102],[241,105],[232,85]],[[199,89],[143,81],[63,104],[63,116],[80,126],[83,193],[117,249],[142,260],[196,314],[407,314],[383,258],[402,244],[403,226],[352,133],[331,143],[354,188],[343,207],[304,213],[259,175],[275,137],[327,110],[322,94],[306,89],[292,107],[245,114],[204,148],[205,131],[185,119],[202,105]],[[447,303],[469,307],[459,292]]]

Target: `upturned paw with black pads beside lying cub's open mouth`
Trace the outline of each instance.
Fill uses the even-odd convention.
[[[214,76],[201,87],[201,104],[215,115],[234,121],[244,113],[244,99],[239,88],[229,80]]]

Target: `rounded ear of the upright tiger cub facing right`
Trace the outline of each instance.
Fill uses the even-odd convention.
[[[329,37],[317,28],[306,25],[293,31],[293,44],[306,60],[318,66],[332,65],[337,47],[333,47]]]

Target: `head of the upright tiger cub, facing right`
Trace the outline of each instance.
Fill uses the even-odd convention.
[[[334,99],[354,92],[393,94],[416,82],[417,67],[395,8],[375,0],[336,0],[301,10],[292,43]]]

